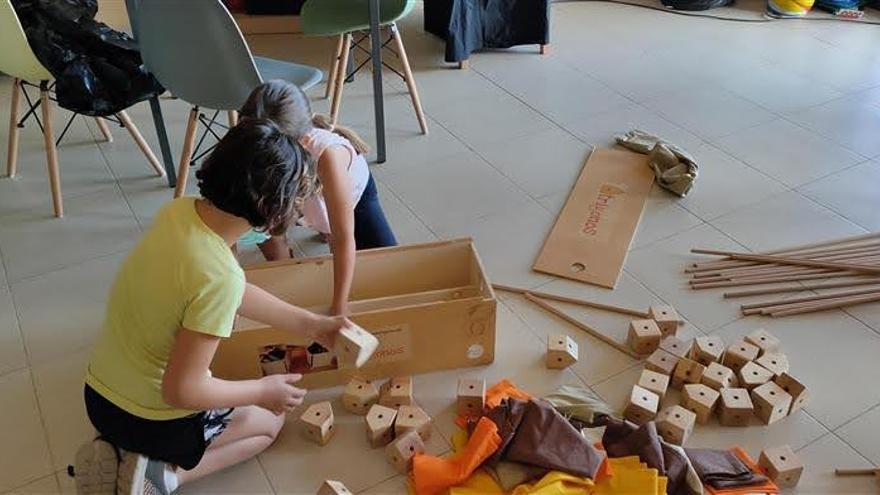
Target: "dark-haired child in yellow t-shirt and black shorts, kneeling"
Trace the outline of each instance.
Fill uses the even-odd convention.
[[[231,249],[295,220],[314,183],[305,157],[269,120],[236,126],[196,175],[203,199],[165,205],[123,262],[86,374],[99,437],[77,452],[79,493],[171,493],[266,449],[302,403],[300,375],[227,381],[209,365],[236,314],[325,347],[350,325],[249,284]]]

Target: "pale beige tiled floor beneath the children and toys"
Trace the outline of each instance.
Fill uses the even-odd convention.
[[[441,44],[421,31],[418,11],[407,20],[431,134],[418,134],[403,85],[389,77],[389,160],[373,169],[400,240],[471,235],[495,281],[638,307],[667,302],[687,318],[689,336],[733,339],[766,327],[783,339],[812,402],[771,427],[700,427],[692,445],[739,443],[757,455],[765,445],[789,443],[807,464],[797,493],[877,493],[873,480],[837,480],[831,470],[880,463],[880,305],[741,318],[719,294],[686,290],[681,268],[694,246],[769,249],[880,227],[880,30],[726,23],[601,3],[557,4],[552,14],[550,55],[534,47],[478,54],[469,71],[442,63]],[[258,53],[318,65],[330,49],[324,40],[292,36],[250,42]],[[5,115],[9,81],[0,86]],[[346,87],[342,118],[372,138],[369,90],[368,77]],[[170,100],[165,108],[176,154],[187,109]],[[146,107],[131,114],[155,143]],[[635,126],[697,156],[694,192],[684,200],[652,193],[613,292],[531,272],[589,147],[609,145],[614,133]],[[0,130],[0,140],[6,133]],[[60,147],[64,220],[49,216],[33,126],[22,132],[20,176],[0,180],[0,493],[72,491],[63,469],[90,435],[81,377],[108,285],[170,197],[120,130],[112,144],[95,144],[96,134],[93,123],[77,120]],[[326,249],[307,232],[292,238],[299,254]],[[416,378],[417,399],[437,420],[434,453],[450,448],[461,375],[509,377],[539,395],[578,384],[613,404],[635,381],[634,360],[502,297],[494,365]],[[625,319],[564,309],[624,335]],[[581,360],[568,371],[541,365],[541,339],[555,332],[581,345]],[[315,391],[309,399],[337,395]],[[258,459],[183,492],[307,494],[331,477],[359,493],[401,493],[404,479],[366,448],[360,419],[340,413],[339,423],[337,438],[319,448],[290,421]]]

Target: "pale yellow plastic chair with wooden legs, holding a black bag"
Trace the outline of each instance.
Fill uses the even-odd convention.
[[[18,20],[18,15],[12,7],[10,0],[0,0],[0,72],[13,77],[12,102],[9,110],[9,147],[6,154],[6,173],[15,177],[18,162],[18,130],[24,127],[24,122],[34,115],[37,124],[43,131],[43,142],[46,146],[46,160],[49,166],[49,185],[52,191],[52,203],[55,208],[55,216],[64,216],[64,202],[61,197],[61,178],[58,171],[58,152],[55,142],[55,130],[52,123],[52,97],[51,85],[52,74],[40,63],[33,50],[28,44],[24,29]],[[30,110],[19,121],[18,107],[22,93],[27,86],[40,88],[40,99],[30,105]],[[25,93],[27,98],[27,94]],[[28,103],[30,100],[28,99]],[[36,117],[37,107],[40,107],[42,122]],[[75,116],[75,115],[74,115]],[[72,117],[71,117],[72,118]],[[153,154],[147,142],[144,140],[138,128],[124,111],[116,114],[119,124],[128,129],[131,137],[147,157],[150,166],[160,177],[165,176],[165,170]],[[107,141],[112,141],[107,122],[96,117],[98,129],[101,130]],[[63,135],[63,133],[62,133]]]

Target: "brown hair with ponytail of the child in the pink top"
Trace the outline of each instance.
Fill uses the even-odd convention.
[[[241,107],[240,114],[243,118],[272,120],[293,139],[305,136],[314,128],[332,131],[347,139],[359,154],[370,152],[367,143],[355,131],[333,125],[326,115],[313,114],[308,96],[287,81],[274,79],[257,86]]]

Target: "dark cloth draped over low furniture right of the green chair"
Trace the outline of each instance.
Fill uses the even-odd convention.
[[[431,0],[425,31],[446,40],[446,61],[481,48],[545,45],[550,41],[549,0]]]

